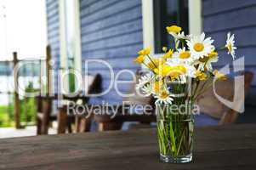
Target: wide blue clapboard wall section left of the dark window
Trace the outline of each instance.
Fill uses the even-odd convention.
[[[82,59],[103,59],[115,74],[122,69],[136,71],[139,65],[134,65],[133,59],[143,48],[141,1],[81,0],[80,8]],[[103,90],[108,88],[111,77],[105,65],[91,63],[88,72],[100,73]],[[119,80],[132,80],[132,77],[122,74]],[[122,93],[128,88],[128,83],[118,87]],[[112,88],[109,94],[91,100],[92,103],[102,101],[120,103],[122,97]]]

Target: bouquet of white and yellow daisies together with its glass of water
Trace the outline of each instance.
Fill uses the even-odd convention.
[[[168,26],[168,33],[174,39],[174,47],[163,47],[160,58],[151,56],[151,48],[139,51],[134,62],[145,65],[149,70],[140,77],[137,88],[145,96],[156,98],[157,134],[162,161],[191,161],[193,121],[191,110],[196,99],[216,80],[225,80],[225,74],[213,70],[213,63],[218,62],[218,49],[213,39],[185,35],[179,26]],[[234,35],[227,34],[223,48],[233,59],[235,56]],[[214,80],[214,81],[213,81]],[[182,95],[180,95],[182,94]],[[168,106],[185,105],[184,110],[171,110]],[[186,114],[180,114],[185,111]]]

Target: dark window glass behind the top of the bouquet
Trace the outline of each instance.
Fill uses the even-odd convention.
[[[154,0],[154,37],[155,53],[162,53],[162,47],[172,47],[172,39],[166,26],[177,25],[189,32],[188,0]]]

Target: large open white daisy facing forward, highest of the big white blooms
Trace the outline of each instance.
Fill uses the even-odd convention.
[[[195,59],[203,58],[213,51],[213,40],[211,37],[205,39],[205,34],[202,33],[200,37],[191,37],[191,40],[187,40],[187,45],[191,51],[191,57]]]

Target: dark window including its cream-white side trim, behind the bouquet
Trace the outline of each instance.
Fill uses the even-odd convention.
[[[166,26],[181,26],[185,33],[199,35],[202,29],[202,0],[142,0],[144,48],[160,56],[162,47],[171,47]]]

